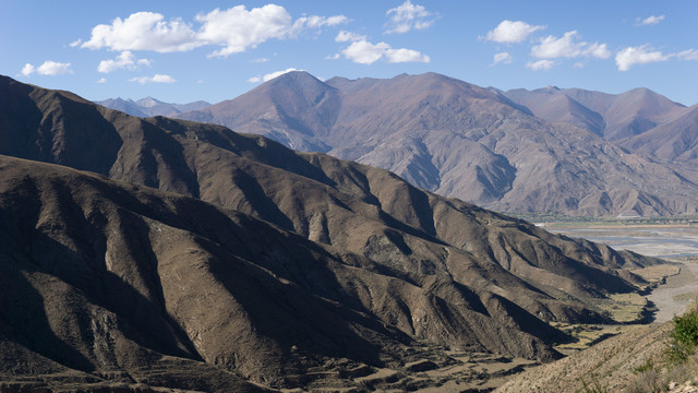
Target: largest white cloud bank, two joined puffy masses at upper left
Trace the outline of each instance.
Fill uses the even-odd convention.
[[[215,9],[194,16],[198,28],[181,19],[165,20],[156,12],[136,12],[125,19],[92,29],[89,40],[76,40],[74,46],[88,49],[153,50],[158,52],[189,51],[202,46],[220,46],[209,57],[227,57],[254,48],[269,39],[287,39],[306,29],[347,23],[344,15],[302,16],[293,21],[280,5],[267,4],[248,10],[236,5]]]

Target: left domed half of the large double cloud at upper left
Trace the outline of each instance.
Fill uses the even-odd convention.
[[[115,19],[110,25],[92,29],[92,37],[81,48],[109,50],[154,50],[158,52],[192,50],[203,43],[192,27],[181,20],[165,21],[154,12],[136,12],[129,17]]]

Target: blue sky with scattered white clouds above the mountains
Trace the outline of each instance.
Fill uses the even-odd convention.
[[[698,1],[0,2],[0,74],[87,99],[234,98],[289,70],[698,104]],[[1,97],[0,97],[1,98]]]

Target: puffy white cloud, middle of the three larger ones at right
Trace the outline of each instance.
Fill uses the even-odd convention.
[[[577,31],[565,33],[561,38],[547,36],[540,40],[539,45],[531,48],[531,56],[539,59],[557,59],[557,58],[577,58],[577,57],[594,57],[599,59],[607,59],[611,51],[605,44],[576,43],[579,35]]]

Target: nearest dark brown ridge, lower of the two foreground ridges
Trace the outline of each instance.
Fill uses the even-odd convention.
[[[164,372],[172,385],[186,379],[179,362],[203,376],[173,388],[226,391],[253,389],[238,374],[288,385],[333,358],[381,365],[412,340],[554,356],[539,337],[558,332],[443,274],[407,277],[233,211],[64,167],[0,157],[0,174],[9,376],[50,359],[48,373],[116,376],[93,377],[107,383]],[[454,275],[477,269],[449,252],[461,254]],[[232,374],[206,381],[218,369]]]

